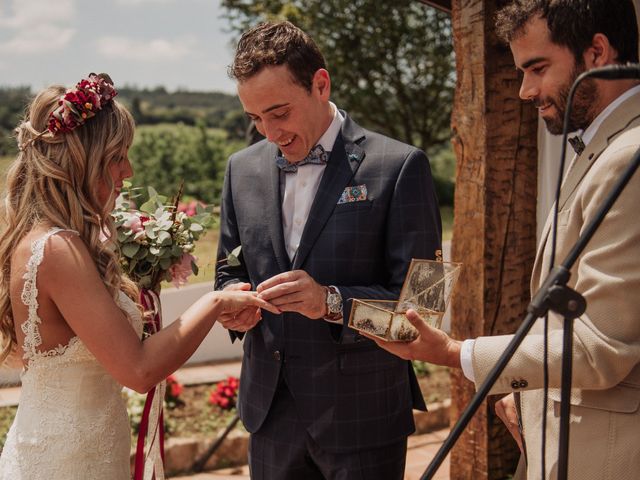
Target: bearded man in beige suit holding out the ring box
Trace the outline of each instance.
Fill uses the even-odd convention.
[[[638,29],[631,0],[517,0],[497,15],[523,73],[520,97],[535,103],[547,129],[562,133],[567,95],[585,70],[638,62]],[[640,84],[588,80],[578,89],[571,129],[582,132],[562,186],[556,262],[583,228],[640,147]],[[607,214],[574,265],[569,286],[587,300],[574,323],[569,478],[636,479],[640,476],[640,173]],[[531,279],[537,291],[549,271],[547,220]],[[420,337],[408,344],[378,341],[407,359],[462,367],[480,385],[512,336],[459,342],[407,316]],[[556,478],[559,434],[562,318],[549,317],[549,401],[546,472],[541,471],[543,326],[534,325],[503,371],[492,394],[510,393],[496,411],[527,459],[528,478]],[[520,397],[517,412],[513,392]],[[518,415],[519,413],[519,415]],[[522,429],[518,427],[520,425]],[[524,442],[522,441],[521,431]],[[524,476],[524,462],[519,474]]]

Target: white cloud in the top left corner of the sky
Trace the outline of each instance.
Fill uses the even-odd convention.
[[[0,27],[13,31],[0,43],[0,52],[28,55],[66,47],[75,34],[74,0],[14,0],[0,13]]]

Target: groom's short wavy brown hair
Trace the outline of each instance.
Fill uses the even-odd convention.
[[[294,24],[263,22],[240,38],[229,77],[242,83],[264,67],[278,65],[285,65],[293,81],[308,91],[318,69],[327,68],[313,39]]]

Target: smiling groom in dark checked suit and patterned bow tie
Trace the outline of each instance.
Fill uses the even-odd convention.
[[[412,366],[346,326],[352,298],[395,299],[412,257],[440,249],[423,152],[329,101],[313,40],[288,22],[246,32],[230,73],[263,140],[229,159],[217,289],[256,289],[282,312],[221,323],[244,339],[241,418],[256,479],[402,479]],[[243,334],[241,332],[246,332]]]

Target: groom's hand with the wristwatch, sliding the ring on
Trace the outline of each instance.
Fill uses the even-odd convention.
[[[309,318],[327,314],[327,290],[304,270],[275,275],[258,285],[256,291],[282,312],[296,312]]]

